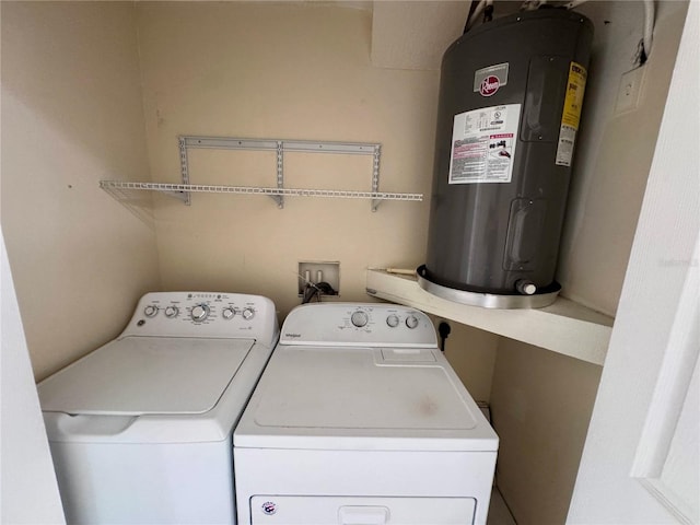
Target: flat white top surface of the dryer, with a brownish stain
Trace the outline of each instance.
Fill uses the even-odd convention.
[[[253,419],[290,433],[469,431],[477,422],[466,390],[436,352],[280,346],[250,402]]]

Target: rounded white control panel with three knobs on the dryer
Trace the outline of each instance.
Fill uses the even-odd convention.
[[[294,308],[282,325],[281,345],[435,348],[422,312],[386,303],[320,303]]]

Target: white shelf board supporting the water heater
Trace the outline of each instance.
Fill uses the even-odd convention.
[[[375,298],[598,365],[605,361],[615,320],[563,298],[533,310],[469,306],[428,293],[416,276],[383,270],[368,270],[366,289]]]

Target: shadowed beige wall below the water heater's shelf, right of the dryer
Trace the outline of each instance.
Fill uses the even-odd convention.
[[[501,339],[491,415],[497,483],[520,525],[563,524],[602,368]]]

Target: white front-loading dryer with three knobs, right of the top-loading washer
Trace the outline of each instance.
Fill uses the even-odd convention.
[[[498,436],[393,304],[293,310],[233,438],[238,524],[485,524]]]

